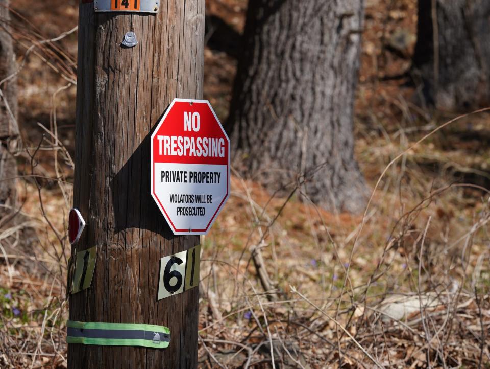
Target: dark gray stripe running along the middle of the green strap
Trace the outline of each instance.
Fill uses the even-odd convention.
[[[170,342],[170,335],[161,332],[122,329],[84,329],[68,327],[66,333],[71,337],[105,338],[105,339],[147,339]]]

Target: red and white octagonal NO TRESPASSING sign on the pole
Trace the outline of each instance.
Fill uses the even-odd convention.
[[[152,196],[174,234],[205,235],[230,192],[230,140],[209,101],[174,99],[151,156]]]

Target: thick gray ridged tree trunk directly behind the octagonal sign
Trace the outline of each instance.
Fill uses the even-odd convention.
[[[352,133],[362,17],[362,0],[250,0],[226,124],[242,175],[271,190],[306,178],[314,202],[362,209]]]

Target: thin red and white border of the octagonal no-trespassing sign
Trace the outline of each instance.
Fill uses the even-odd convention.
[[[214,212],[213,216],[211,217],[211,220],[209,221],[208,225],[204,229],[177,229],[174,225],[174,223],[171,221],[170,217],[168,216],[167,212],[165,211],[162,203],[158,199],[157,195],[155,194],[155,162],[153,161],[153,140],[155,138],[155,135],[157,134],[158,130],[161,128],[163,125],[163,122],[165,121],[168,113],[174,106],[176,102],[184,102],[184,103],[201,103],[201,104],[207,104],[211,112],[213,113],[214,119],[218,123],[219,128],[222,130],[224,136],[226,137],[228,141],[228,164],[226,165],[227,171],[226,171],[226,195],[223,198],[223,200],[219,203],[216,211]],[[170,105],[168,105],[167,109],[165,110],[165,113],[163,114],[163,117],[160,119],[158,122],[155,130],[152,133],[151,141],[150,141],[150,155],[151,155],[151,162],[150,162],[150,167],[151,167],[151,184],[150,184],[150,192],[152,194],[153,199],[158,205],[158,208],[162,212],[163,216],[165,217],[165,220],[167,223],[170,225],[172,232],[174,232],[174,235],[206,235],[209,232],[209,229],[213,225],[214,221],[216,220],[219,212],[223,209],[223,204],[228,200],[228,197],[230,196],[230,139],[228,135],[226,134],[225,129],[223,128],[223,125],[219,121],[218,117],[216,116],[216,113],[214,112],[213,107],[209,103],[208,100],[198,100],[198,99],[178,99],[175,98]]]

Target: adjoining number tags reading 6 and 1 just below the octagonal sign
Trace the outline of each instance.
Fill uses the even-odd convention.
[[[199,285],[201,246],[160,259],[158,299],[182,293]]]

